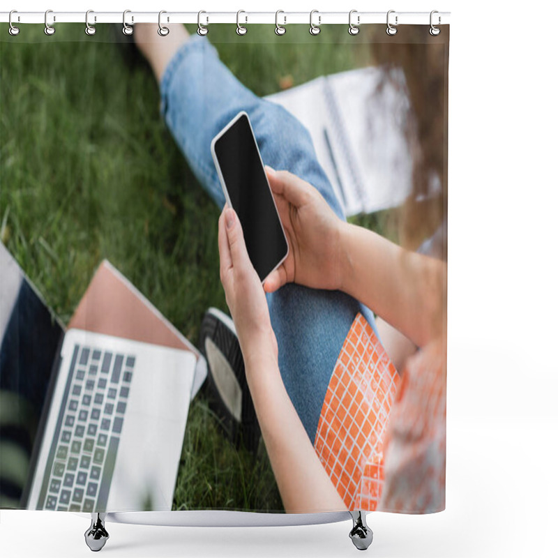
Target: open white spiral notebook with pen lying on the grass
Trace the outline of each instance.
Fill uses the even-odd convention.
[[[405,202],[412,191],[416,137],[400,68],[324,75],[266,98],[308,130],[346,216]],[[432,188],[438,190],[439,184]]]

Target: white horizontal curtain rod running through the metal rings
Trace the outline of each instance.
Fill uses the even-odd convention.
[[[97,23],[122,23],[122,12],[96,12],[89,10],[86,16],[85,12],[58,12],[55,10],[47,10],[45,12],[18,12],[13,10],[11,16],[12,24],[45,24],[45,17],[49,25],[57,23],[85,23],[86,19],[90,25]],[[160,17],[160,20],[159,20]],[[430,12],[398,12],[396,10],[389,11],[389,22],[392,25],[409,25],[430,23],[434,25],[449,24],[449,12],[437,12],[432,15],[430,20]],[[126,10],[126,23],[201,23],[202,25],[211,25],[214,23],[232,23],[232,24],[310,24],[310,12],[245,12],[241,10],[236,12],[135,12]],[[388,20],[387,12],[359,12],[352,10],[351,22],[354,25],[383,23]],[[0,22],[9,22],[10,12],[0,12]],[[349,24],[349,12],[319,12],[313,10],[312,23],[314,25],[329,24]]]

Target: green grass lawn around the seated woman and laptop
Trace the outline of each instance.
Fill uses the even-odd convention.
[[[190,340],[208,306],[227,310],[218,273],[218,209],[159,115],[156,82],[99,26],[0,26],[0,235],[57,315],[68,322],[107,258]],[[211,27],[211,41],[255,93],[370,62],[345,26]],[[24,42],[27,41],[27,42]],[[349,44],[350,41],[350,44]],[[133,48],[133,47],[129,47]],[[356,218],[382,227],[382,216]],[[384,223],[385,224],[385,223]],[[257,459],[218,429],[204,395],[193,402],[174,507],[280,510],[263,444]]]

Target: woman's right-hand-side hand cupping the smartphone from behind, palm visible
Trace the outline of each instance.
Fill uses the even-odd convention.
[[[266,167],[266,174],[289,241],[289,255],[266,278],[266,292],[274,292],[287,282],[315,289],[339,289],[342,284],[340,236],[345,223],[308,182],[270,167]]]

